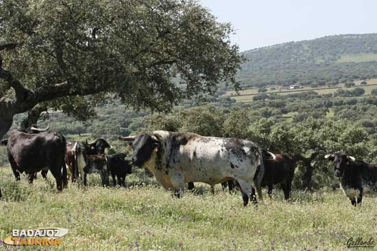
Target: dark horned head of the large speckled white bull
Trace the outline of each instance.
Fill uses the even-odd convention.
[[[142,167],[160,149],[158,137],[158,135],[141,134],[131,137],[119,137],[119,140],[130,142],[129,147],[134,150],[132,163]]]

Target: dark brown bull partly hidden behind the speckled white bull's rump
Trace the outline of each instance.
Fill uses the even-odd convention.
[[[276,154],[276,159],[263,159],[265,174],[262,179],[262,187],[268,187],[269,198],[272,198],[273,185],[280,183],[284,191],[285,200],[289,199],[293,176],[295,175],[295,162],[287,153]]]

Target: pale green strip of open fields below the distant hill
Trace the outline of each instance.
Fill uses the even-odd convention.
[[[361,85],[361,80],[360,81],[354,81],[354,83],[356,84],[354,88],[356,88],[356,87],[364,88],[365,94],[370,94],[373,89],[377,88],[377,79],[367,79],[367,83],[368,83],[367,85]],[[275,94],[279,94],[279,95],[287,95],[287,94],[292,94],[292,93],[297,93],[297,92],[315,91],[318,94],[328,94],[328,93],[336,92],[339,88],[344,88],[345,90],[352,90],[353,89],[353,88],[345,88],[344,84],[342,83],[340,85],[335,86],[334,88],[310,88],[310,87],[306,87],[306,88],[289,90],[289,91],[282,91],[282,92],[279,91],[279,86],[276,87],[276,90],[271,90],[271,88],[269,87],[269,88],[267,88],[267,92],[265,92],[265,93],[266,94],[275,93]],[[234,98],[237,102],[250,103],[250,102],[252,102],[253,96],[256,95],[256,94],[260,94],[260,93],[258,93],[258,88],[250,88],[250,89],[241,90],[239,92],[239,94],[240,94],[240,96],[237,96],[236,92],[228,91],[223,96],[230,96],[230,97]]]

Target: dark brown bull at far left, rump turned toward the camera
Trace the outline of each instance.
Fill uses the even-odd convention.
[[[40,130],[34,127],[32,129]],[[8,159],[16,180],[20,180],[20,173],[27,172],[27,174],[31,174],[29,182],[32,183],[34,172],[48,168],[56,179],[58,190],[61,191],[62,187],[66,187],[66,166],[64,164],[66,140],[62,133],[44,131],[34,134],[12,130],[8,135],[8,140],[3,140],[1,143],[7,142]]]

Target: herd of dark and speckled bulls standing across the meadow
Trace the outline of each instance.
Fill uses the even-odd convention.
[[[106,148],[112,148],[106,140],[69,142],[62,133],[48,129],[14,129],[8,139],[1,140],[1,145],[7,146],[16,180],[25,172],[32,183],[37,172],[42,171],[46,178],[49,170],[61,191],[69,179],[72,183],[80,179],[87,185],[87,174],[97,172],[102,185],[109,185],[111,174],[114,186],[125,187],[125,177],[132,172],[132,166],[138,166],[149,169],[158,183],[178,198],[186,184],[194,189],[194,182],[210,185],[212,193],[218,183],[230,191],[239,189],[244,206],[249,200],[257,203],[255,192],[263,199],[261,187],[268,187],[271,198],[273,185],[280,184],[284,198],[291,196],[295,160],[286,153],[270,153],[249,140],[169,131],[119,137],[132,149],[132,159],[127,161],[123,153],[106,155]],[[377,191],[377,165],[345,153],[325,158],[334,163],[335,176],[353,205],[361,203],[366,192]]]

